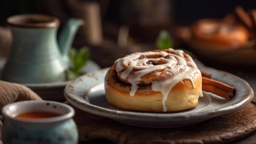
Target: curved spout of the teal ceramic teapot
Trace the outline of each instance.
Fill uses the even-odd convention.
[[[69,63],[69,50],[72,46],[74,37],[76,35],[76,32],[84,23],[84,20],[71,18],[68,20],[67,24],[64,26],[62,32],[60,33],[59,39],[58,39],[58,45],[60,48],[61,55],[64,59],[64,62],[68,65]]]

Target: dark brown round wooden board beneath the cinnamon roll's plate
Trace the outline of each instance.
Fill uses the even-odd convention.
[[[80,143],[92,141],[115,144],[212,144],[228,143],[256,130],[256,99],[243,109],[200,124],[168,129],[133,127],[110,118],[76,109],[74,117],[79,129]]]

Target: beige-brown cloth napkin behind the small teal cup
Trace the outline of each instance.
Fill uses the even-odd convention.
[[[26,86],[0,81],[0,110],[6,104],[13,103],[15,101],[29,101],[29,100],[42,100],[35,92]],[[3,117],[0,115],[0,120]],[[0,129],[2,128],[2,121],[0,121]],[[1,136],[1,133],[0,133]],[[2,144],[0,137],[0,144]]]

